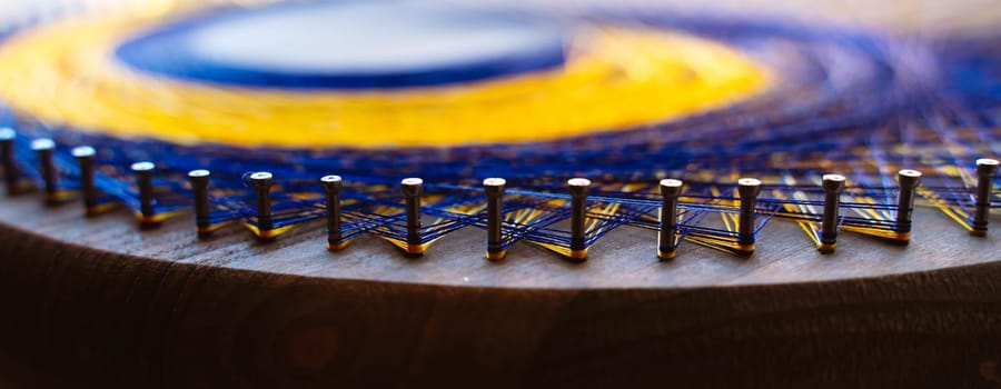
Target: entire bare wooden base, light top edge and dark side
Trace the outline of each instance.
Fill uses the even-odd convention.
[[[773,221],[759,252],[623,228],[585,263],[482,230],[420,259],[323,222],[271,243],[191,216],[140,231],[0,201],[0,385],[24,387],[1001,387],[1001,242],[931,210],[910,247],[815,252]],[[995,217],[995,221],[998,218]]]

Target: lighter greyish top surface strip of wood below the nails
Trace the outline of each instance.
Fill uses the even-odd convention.
[[[913,240],[906,247],[842,232],[838,250],[821,255],[800,227],[772,220],[752,257],[734,257],[691,242],[677,258],[656,258],[656,231],[623,227],[598,240],[584,263],[573,263],[527,243],[507,259],[483,259],[486,232],[467,228],[409,259],[390,245],[363,237],[339,252],[325,250],[323,220],[298,227],[272,242],[259,242],[241,227],[198,239],[194,216],[142,230],[125,210],[83,218],[77,203],[44,207],[33,196],[7,198],[0,222],[98,250],[178,263],[225,267],[316,278],[360,279],[445,286],[502,288],[680,288],[776,282],[809,282],[888,276],[1001,259],[1001,239],[970,236],[932,209],[916,209]],[[1001,215],[993,216],[1001,229]]]

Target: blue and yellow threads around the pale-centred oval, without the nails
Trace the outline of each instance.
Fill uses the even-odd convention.
[[[318,179],[338,173],[344,225],[335,248],[371,233],[417,253],[452,231],[484,227],[482,177],[509,183],[502,249],[526,241],[571,258],[581,250],[571,249],[564,226],[563,179],[575,176],[596,183],[586,247],[621,226],[656,229],[655,183],[667,177],[686,182],[677,245],[737,255],[753,249],[737,242],[734,222],[736,178],[749,176],[764,183],[755,233],[773,219],[792,219],[820,246],[816,179],[840,172],[851,182],[841,197],[840,229],[905,241],[910,232],[895,221],[895,174],[904,168],[925,172],[919,206],[970,228],[973,160],[1001,154],[1001,80],[991,71],[1001,67],[1001,41],[903,41],[712,18],[637,20],[643,28],[615,27],[613,18],[596,24],[599,31],[582,32],[583,51],[592,51],[574,53],[557,73],[316,96],[151,82],[108,61],[116,38],[145,21],[70,21],[0,50],[0,60],[12,64],[0,69],[10,103],[2,121],[21,134],[13,141],[23,182],[41,179],[28,148],[32,138],[60,144],[56,163],[67,191],[79,187],[67,146],[90,143],[101,150],[95,181],[102,205],[137,210],[126,167],[151,159],[160,162],[156,215],[167,217],[190,208],[185,173],[209,168],[209,229],[240,222],[262,238],[321,218]],[[608,86],[609,74],[621,89],[588,89]],[[538,101],[522,101],[536,93]],[[594,104],[571,102],[579,101],[575,93]],[[497,99],[496,112],[486,109]],[[330,123],[318,123],[329,114],[317,113],[324,107],[337,108],[338,126],[351,131],[333,133]],[[409,114],[442,107],[440,114]],[[281,187],[264,231],[254,193],[242,184],[244,173],[262,170]],[[428,182],[420,211],[434,221],[420,227],[419,243],[407,240],[394,186],[402,177]],[[1001,193],[989,193],[997,209]]]

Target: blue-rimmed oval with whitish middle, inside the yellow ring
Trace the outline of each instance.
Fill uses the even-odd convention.
[[[563,27],[525,14],[394,1],[235,8],[116,50],[126,64],[214,83],[295,89],[437,86],[564,63]]]

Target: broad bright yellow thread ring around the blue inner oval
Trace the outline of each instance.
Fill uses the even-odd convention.
[[[0,48],[0,91],[19,112],[117,137],[269,147],[532,142],[651,123],[747,99],[770,74],[678,32],[581,28],[562,69],[449,87],[289,91],[160,78],[112,50],[150,22],[68,20]]]

